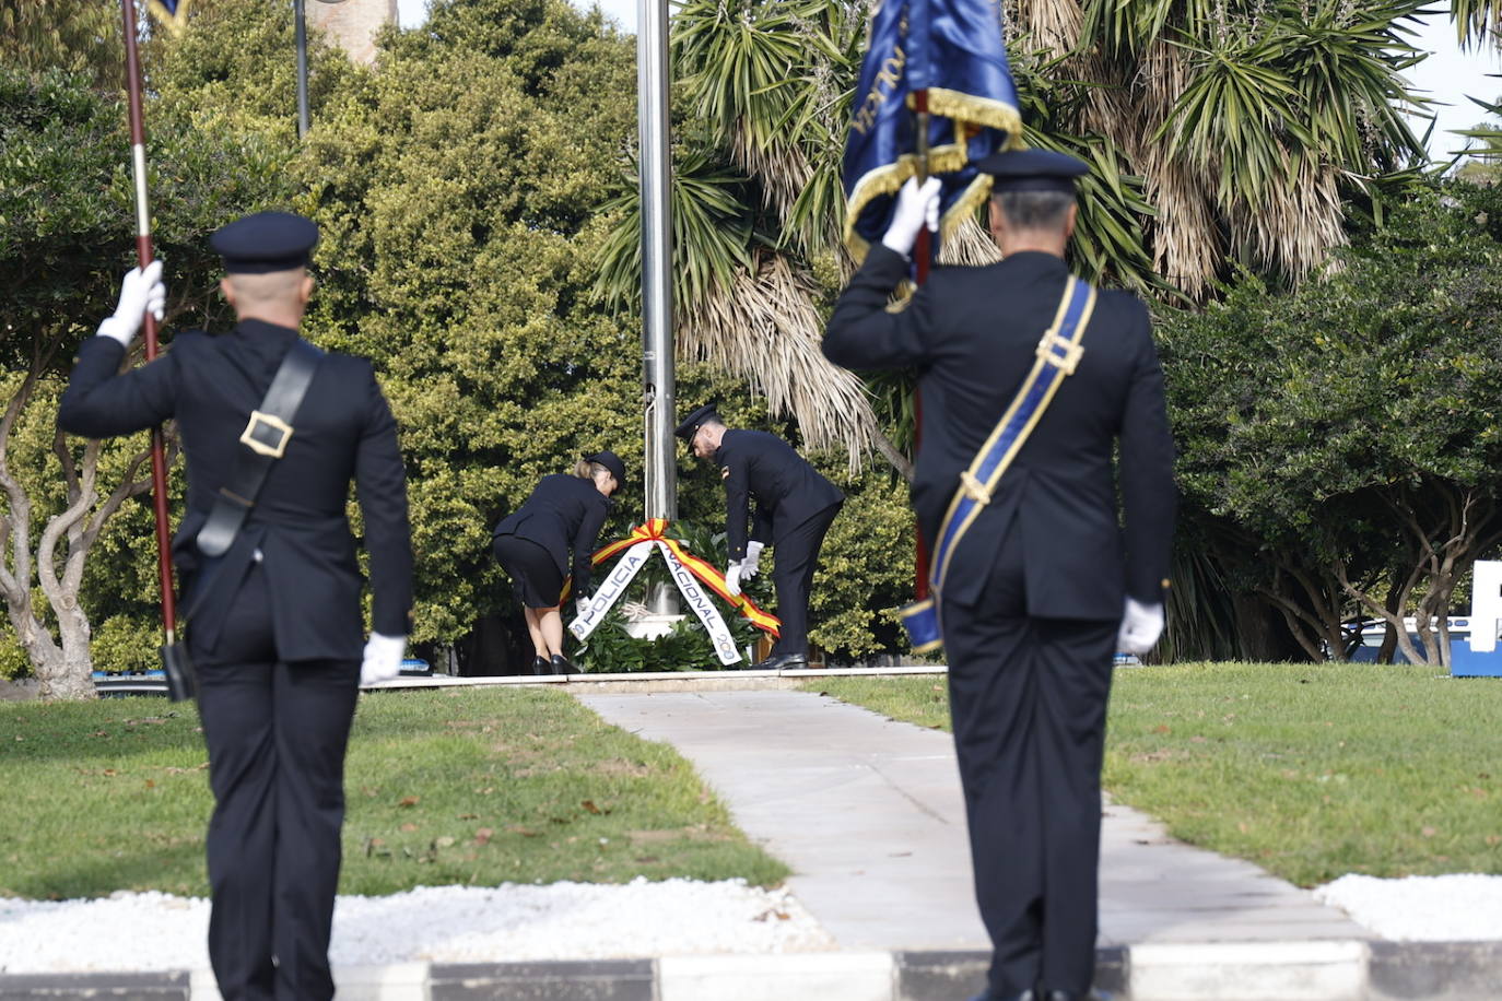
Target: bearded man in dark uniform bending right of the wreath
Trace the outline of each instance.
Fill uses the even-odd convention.
[[[781,629],[766,660],[753,671],[808,666],[808,593],[819,566],[819,548],[844,504],[840,488],[819,474],[793,447],[765,431],[725,428],[712,404],[700,407],[673,432],[701,459],[713,458],[725,483],[725,542],[730,566],[725,584],[740,593],[740,581],[760,570],[762,549],[777,549],[772,584]],[[756,498],[746,539],[749,498]]]

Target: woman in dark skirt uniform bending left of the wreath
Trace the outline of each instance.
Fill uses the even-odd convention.
[[[608,449],[586,455],[574,476],[544,476],[515,512],[491,533],[496,561],[511,575],[532,636],[533,674],[577,674],[563,656],[559,602],[569,548],[574,549],[574,600],[590,597],[590,557],[610,513],[610,495],[626,482],[626,464]]]

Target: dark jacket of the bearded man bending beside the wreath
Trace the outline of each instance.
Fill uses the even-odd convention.
[[[784,533],[844,500],[808,461],[777,435],[730,428],[715,450],[725,482],[725,536],[730,558],[746,554],[748,497],[756,497],[751,539],[772,545]]]

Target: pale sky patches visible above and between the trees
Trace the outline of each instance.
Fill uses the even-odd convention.
[[[580,6],[590,6],[581,0],[575,2]],[[623,29],[635,30],[637,0],[601,0],[599,6]],[[398,0],[398,8],[401,24],[416,27],[422,24],[425,17],[427,0]],[[1430,138],[1428,152],[1434,158],[1443,158],[1464,146],[1461,137],[1446,135],[1446,131],[1469,129],[1485,119],[1485,113],[1466,98],[1475,96],[1493,102],[1502,98],[1502,80],[1488,77],[1488,74],[1502,74],[1502,54],[1493,48],[1463,53],[1455,44],[1455,29],[1443,14],[1427,18],[1418,27],[1419,32],[1413,44],[1434,54],[1409,71],[1409,81],[1424,96],[1442,102],[1433,108],[1437,125]],[[1422,135],[1428,123],[1415,122],[1413,128]]]

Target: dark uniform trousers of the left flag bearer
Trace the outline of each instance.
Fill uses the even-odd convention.
[[[209,959],[219,993],[326,1001],[359,660],[279,660],[258,564],[213,653],[192,654],[215,800]]]

